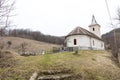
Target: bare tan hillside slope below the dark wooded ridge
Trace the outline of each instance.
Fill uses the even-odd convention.
[[[8,47],[8,42],[11,42],[11,45]],[[19,37],[1,37],[0,43],[4,45],[5,49],[13,50],[18,52],[21,44],[26,44],[26,51],[35,51],[39,52],[42,50],[51,50],[53,47],[59,47],[59,45],[49,44],[45,42],[24,39]]]

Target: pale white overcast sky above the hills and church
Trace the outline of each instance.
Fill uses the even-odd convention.
[[[115,18],[120,0],[108,0],[108,5]],[[105,0],[17,0],[15,6],[14,28],[65,36],[77,26],[88,30],[94,14],[102,34],[112,29]]]

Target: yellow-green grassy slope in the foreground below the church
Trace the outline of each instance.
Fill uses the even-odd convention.
[[[79,51],[39,56],[17,56],[17,65],[13,68],[0,69],[0,74],[7,73],[7,80],[27,80],[34,71],[50,69],[71,69],[84,80],[117,80],[120,69],[111,61],[107,51]]]

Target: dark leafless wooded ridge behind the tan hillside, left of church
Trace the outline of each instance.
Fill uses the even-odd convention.
[[[26,38],[26,39],[43,41],[43,42],[52,43],[52,44],[59,44],[59,45],[64,44],[64,37],[45,35],[40,31],[31,31],[29,29],[6,30],[2,34],[10,37]]]

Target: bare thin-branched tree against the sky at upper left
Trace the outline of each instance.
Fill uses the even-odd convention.
[[[0,35],[9,27],[11,11],[14,9],[15,0],[0,0]]]

